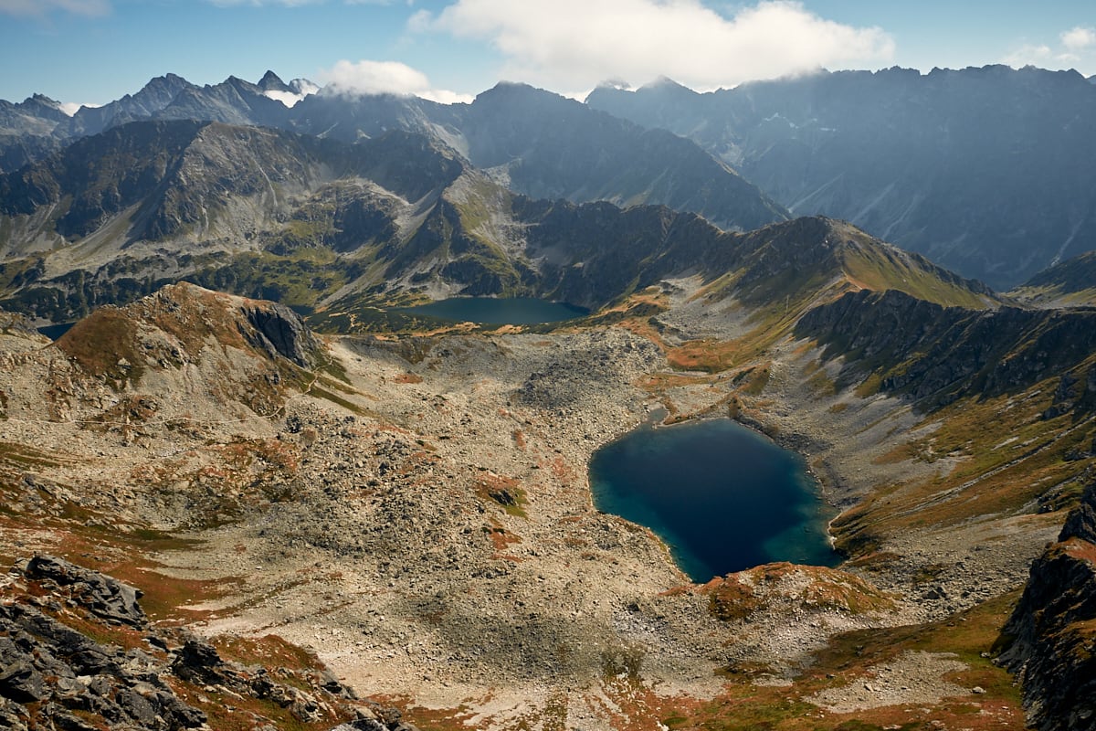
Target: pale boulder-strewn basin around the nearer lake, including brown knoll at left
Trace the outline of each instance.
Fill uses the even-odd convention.
[[[695,284],[666,293],[669,346],[745,327]],[[0,552],[49,551],[140,586],[149,628],[194,633],[138,637],[153,674],[190,658],[197,674],[180,677],[219,683],[233,707],[269,679],[301,689],[300,707],[335,708],[353,689],[416,722],[475,728],[653,728],[743,689],[764,699],[746,708],[794,709],[781,723],[984,712],[998,724],[984,728],[1021,726],[1011,682],[981,654],[995,637],[956,654],[947,628],[985,621],[980,607],[1023,582],[1060,517],[914,526],[840,570],[776,564],[695,585],[649,530],[593,507],[591,454],[655,408],[767,430],[842,507],[954,464],[881,459],[920,418],[886,395],[820,391],[810,375],[837,364],[807,341],[781,345],[757,388],[756,373],[672,373],[665,341],[625,328],[321,343],[286,311],[190,285],[100,317],[54,345],[15,325],[0,340]],[[880,641],[912,623],[937,639]],[[274,636],[333,677],[203,675],[220,667],[210,643]]]

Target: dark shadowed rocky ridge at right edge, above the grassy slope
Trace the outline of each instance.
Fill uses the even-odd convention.
[[[1096,407],[1096,310],[1088,308],[969,310],[863,289],[807,312],[796,333],[925,408],[1017,392],[1055,376],[1060,392],[1048,418]]]

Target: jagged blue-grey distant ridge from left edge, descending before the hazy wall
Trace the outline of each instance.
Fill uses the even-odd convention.
[[[0,116],[0,124],[10,119],[11,141],[0,136],[0,160],[10,159],[11,167],[0,171],[15,172],[23,161],[41,160],[46,150],[139,121],[279,128],[346,144],[402,130],[459,150],[471,164],[491,168],[496,180],[518,194],[663,204],[738,230],[787,218],[780,206],[692,141],[524,84],[503,83],[472,104],[453,105],[335,88],[304,95],[292,107],[271,98],[293,87],[271,72],[259,84],[230,77],[201,88],[167,75],[134,95],[59,121],[48,108],[39,117],[41,105],[31,100],[4,102],[8,107],[0,107],[0,115],[9,114]],[[304,88],[296,84],[298,92]],[[561,125],[566,135],[558,132]],[[591,167],[592,159],[601,162]]]

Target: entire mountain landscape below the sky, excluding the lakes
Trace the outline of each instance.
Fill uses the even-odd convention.
[[[438,728],[1077,728],[1093,90],[892,69],[442,105],[169,75],[0,103],[0,555],[113,573],[216,644],[145,642],[21,563],[0,719],[140,697],[329,729],[358,687]],[[590,312],[403,309],[453,296]],[[593,509],[600,445],[715,415],[803,456],[837,569],[693,584]],[[81,679],[91,637],[125,672]],[[349,728],[401,730],[380,716]]]

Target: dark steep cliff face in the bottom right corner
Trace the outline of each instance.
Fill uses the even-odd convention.
[[[1024,683],[1028,722],[1040,731],[1096,723],[1096,483],[1058,542],[1031,566],[1003,630],[1000,661]]]

